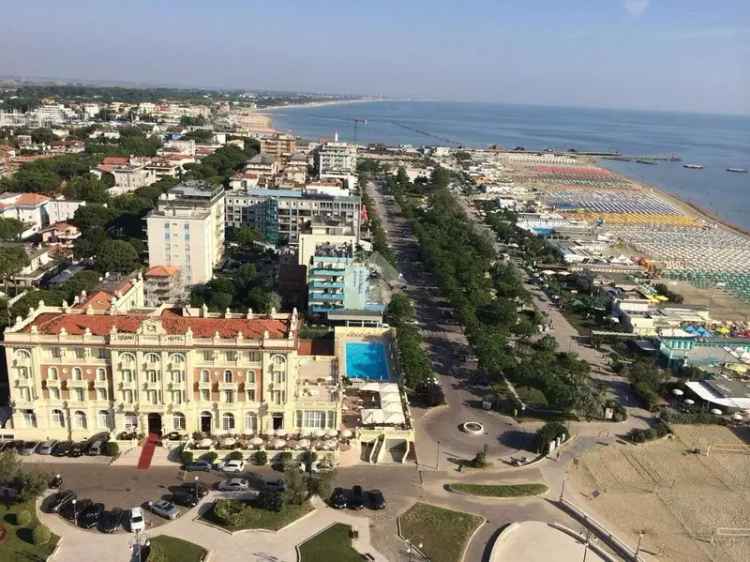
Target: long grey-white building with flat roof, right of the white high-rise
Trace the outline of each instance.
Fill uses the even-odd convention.
[[[246,189],[226,194],[228,226],[252,226],[271,243],[296,246],[310,223],[348,226],[359,241],[362,202],[297,189]]]

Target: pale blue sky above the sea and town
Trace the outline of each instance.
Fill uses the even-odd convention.
[[[0,75],[750,114],[750,1],[24,0]]]

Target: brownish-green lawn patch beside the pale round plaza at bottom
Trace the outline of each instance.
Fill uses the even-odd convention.
[[[431,562],[459,562],[472,533],[482,524],[478,515],[416,503],[399,517],[401,536],[414,544]]]

